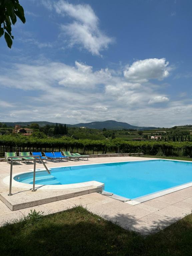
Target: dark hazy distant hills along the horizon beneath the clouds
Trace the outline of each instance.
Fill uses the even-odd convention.
[[[56,123],[46,122],[46,121],[34,121],[34,122],[3,122],[7,126],[14,127],[16,124],[21,126],[27,126],[32,123],[37,123],[39,126],[45,125],[56,125]],[[63,124],[64,125],[64,124]],[[103,122],[91,122],[91,123],[79,123],[79,124],[66,124],[68,127],[87,127],[91,129],[137,129],[137,130],[151,130],[157,129],[157,127],[144,127],[144,126],[134,126],[124,122],[117,122],[114,120],[107,120]]]

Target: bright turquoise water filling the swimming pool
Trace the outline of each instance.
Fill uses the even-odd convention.
[[[19,179],[18,179],[19,177]],[[33,173],[14,177],[16,181],[33,183]],[[58,167],[36,173],[35,184],[61,185],[99,181],[105,190],[130,199],[192,182],[192,163],[147,160]]]

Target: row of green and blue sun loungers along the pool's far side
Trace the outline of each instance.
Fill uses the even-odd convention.
[[[63,153],[63,155],[62,155],[62,153]],[[70,151],[63,151],[62,153],[61,152],[44,152],[45,156],[42,156],[41,152],[32,152],[32,156],[38,155],[41,157],[41,159],[43,159],[45,161],[47,161],[49,159],[49,160],[53,160],[54,162],[55,162],[55,160],[62,161],[62,159],[65,159],[66,161],[68,161],[68,159],[69,160],[73,159],[73,161],[74,161],[75,159],[76,160],[79,160],[79,159],[84,160],[84,158],[87,158],[87,160],[88,160],[88,157],[89,157],[89,155],[80,155],[78,153],[70,153]],[[10,157],[13,157],[12,160],[14,162],[20,163],[20,161],[21,162],[25,161],[25,163],[27,163],[27,161],[28,162],[34,161],[34,157],[32,157],[32,156],[30,155],[30,152],[19,152],[19,156],[17,156],[16,152],[5,152],[5,161],[8,162],[9,160],[11,160]],[[40,162],[40,158],[38,156],[35,158],[37,160],[39,160],[39,162]]]

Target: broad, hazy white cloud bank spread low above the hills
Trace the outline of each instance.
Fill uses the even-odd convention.
[[[14,64],[0,70],[0,88],[1,94],[4,88],[6,93],[21,90],[11,100],[14,110],[1,112],[2,121],[70,124],[112,119],[158,127],[179,125],[176,120],[189,123],[192,113],[190,102],[169,100],[160,85],[127,81],[120,70],[94,71],[77,61],[73,66],[49,61]]]

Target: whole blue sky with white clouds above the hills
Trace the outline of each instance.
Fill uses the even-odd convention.
[[[192,123],[191,0],[20,0],[0,122]]]

